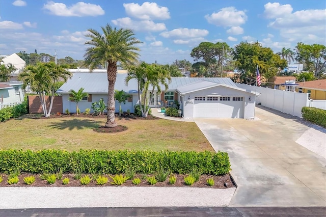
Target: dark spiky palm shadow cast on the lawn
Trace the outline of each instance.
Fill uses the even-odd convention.
[[[71,120],[60,120],[60,122],[50,123],[50,127],[56,129],[84,129],[84,128],[98,128],[102,122],[90,120],[90,119],[71,119]]]

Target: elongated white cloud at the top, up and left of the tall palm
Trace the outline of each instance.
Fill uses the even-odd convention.
[[[70,7],[67,7],[63,3],[48,2],[43,6],[43,9],[46,9],[50,14],[57,16],[99,16],[104,14],[104,10],[99,5],[94,5],[90,3],[78,2]]]

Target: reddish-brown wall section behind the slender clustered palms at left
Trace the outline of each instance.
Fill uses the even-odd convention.
[[[37,113],[43,113],[42,111],[42,105],[40,101],[40,96],[33,95],[33,96],[27,96],[29,101],[29,111],[31,114],[37,114]],[[46,99],[46,107],[49,109],[50,107],[50,97],[45,96]],[[53,106],[51,113],[63,113],[62,110],[62,96],[56,96],[53,100]]]

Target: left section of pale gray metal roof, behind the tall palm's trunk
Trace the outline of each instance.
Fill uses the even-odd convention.
[[[127,74],[117,74],[115,83],[116,90],[124,90],[127,93],[138,93],[137,80],[131,79],[128,86],[125,85],[124,79]],[[72,78],[57,90],[57,93],[69,93],[70,90],[78,91],[84,88],[84,92],[89,94],[107,94],[107,76],[106,73],[73,73]]]

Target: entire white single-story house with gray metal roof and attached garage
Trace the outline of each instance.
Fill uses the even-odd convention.
[[[122,104],[122,110],[133,112],[133,106],[138,104],[137,80],[131,79],[128,86],[125,85],[127,74],[118,73],[115,83],[116,90],[124,90],[130,97],[126,104]],[[81,112],[91,108],[91,102],[103,98],[107,101],[107,77],[106,73],[73,73],[58,91],[63,97],[63,111],[68,109],[76,112],[75,102],[68,100],[70,90],[84,91],[90,96],[78,103]],[[161,87],[165,90],[164,87]],[[151,87],[149,88],[151,90]],[[171,105],[177,100],[184,118],[212,117],[212,118],[253,118],[255,113],[255,92],[238,88],[230,78],[188,78],[172,77],[169,88],[157,94],[154,91],[151,107]],[[116,104],[118,102],[116,101]],[[116,106],[118,112],[118,106]]]

